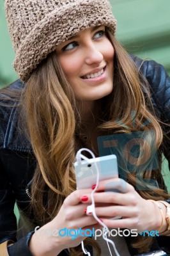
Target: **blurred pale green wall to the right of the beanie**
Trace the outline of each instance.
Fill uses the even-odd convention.
[[[111,0],[117,38],[139,56],[162,63],[170,74],[170,1]]]

